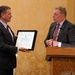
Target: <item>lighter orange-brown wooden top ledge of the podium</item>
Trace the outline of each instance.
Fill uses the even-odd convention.
[[[47,47],[46,53],[50,57],[75,57],[75,48]]]

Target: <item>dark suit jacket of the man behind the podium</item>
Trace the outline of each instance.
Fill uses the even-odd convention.
[[[56,23],[53,22],[49,28],[48,35],[44,41],[46,47],[46,40],[53,38],[55,27]],[[68,20],[65,20],[60,29],[57,41],[62,42],[61,47],[75,47],[75,25],[70,23]],[[50,60],[49,56],[47,56],[46,59]]]

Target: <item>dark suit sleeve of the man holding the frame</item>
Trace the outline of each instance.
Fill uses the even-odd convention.
[[[5,43],[1,30],[0,30],[0,52],[7,52],[10,54],[17,53],[17,47],[13,46],[12,44]]]

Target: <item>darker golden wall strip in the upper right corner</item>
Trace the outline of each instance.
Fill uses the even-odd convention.
[[[75,0],[67,0],[67,19],[72,22],[75,23]]]

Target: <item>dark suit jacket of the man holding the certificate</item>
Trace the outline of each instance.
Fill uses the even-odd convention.
[[[15,54],[17,53],[17,47],[15,47],[15,36],[13,39],[14,42],[8,30],[0,22],[0,69],[16,67]]]

